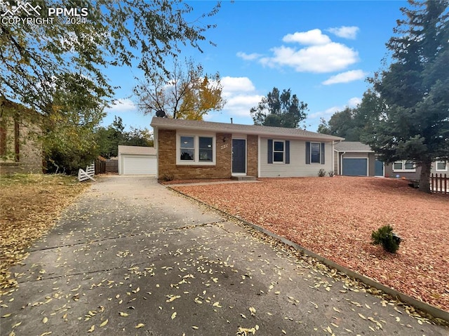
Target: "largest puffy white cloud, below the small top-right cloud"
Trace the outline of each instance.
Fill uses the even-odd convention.
[[[261,58],[262,65],[286,65],[297,72],[334,72],[358,61],[358,53],[341,43],[330,42],[296,50],[281,46],[272,49],[272,58]]]

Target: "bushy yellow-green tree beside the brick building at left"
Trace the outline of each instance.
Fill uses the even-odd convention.
[[[91,81],[79,74],[55,79],[55,93],[43,118],[43,153],[48,172],[76,173],[98,156],[93,130],[100,123],[102,100],[93,100]]]

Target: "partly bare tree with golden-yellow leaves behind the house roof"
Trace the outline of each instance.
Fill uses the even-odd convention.
[[[175,60],[172,71],[154,73],[134,89],[144,114],[163,111],[174,119],[202,120],[208,112],[225,105],[220,74],[204,74],[193,60],[185,66]]]

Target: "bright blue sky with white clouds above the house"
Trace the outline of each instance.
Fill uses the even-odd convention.
[[[189,4],[199,16],[214,2]],[[251,107],[274,87],[290,88],[309,107],[304,126],[316,131],[320,118],[360,102],[366,77],[389,55],[385,43],[403,6],[406,1],[224,1],[217,15],[203,20],[217,25],[206,32],[217,46],[205,42],[203,53],[186,47],[180,56],[220,73],[227,104],[206,121],[253,124]],[[103,125],[120,116],[128,129],[151,130],[152,116],[139,112],[132,96],[138,69],[109,69],[107,75],[120,88]]]

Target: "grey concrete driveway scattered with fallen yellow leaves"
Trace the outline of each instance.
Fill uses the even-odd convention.
[[[449,335],[148,177],[100,178],[13,269],[1,335]]]

